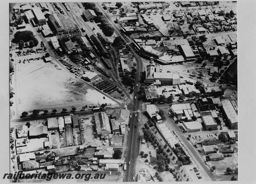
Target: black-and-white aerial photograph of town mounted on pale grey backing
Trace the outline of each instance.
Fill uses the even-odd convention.
[[[10,3],[9,40],[10,182],[238,180],[236,1]]]

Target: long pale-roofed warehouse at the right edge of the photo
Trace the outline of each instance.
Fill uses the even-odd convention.
[[[226,120],[228,121],[229,127],[231,129],[237,129],[238,128],[238,120],[237,120],[237,113],[230,102],[230,100],[223,100],[221,101],[222,108],[224,110],[224,115]]]

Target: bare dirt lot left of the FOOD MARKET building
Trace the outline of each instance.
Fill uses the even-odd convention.
[[[93,130],[91,126],[92,117],[90,119],[83,119],[84,123],[81,123],[82,126],[80,126],[80,129],[84,129],[84,131],[81,132],[82,142],[83,146],[102,146],[102,142],[99,138],[95,138],[94,135],[92,135]]]

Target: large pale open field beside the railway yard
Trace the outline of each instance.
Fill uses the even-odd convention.
[[[13,85],[13,88],[20,99],[20,104],[17,104],[20,113],[34,109],[60,110],[73,105],[80,107],[82,103],[115,104],[107,97],[103,99],[103,94],[89,88],[65,70],[56,70],[54,64],[35,60],[17,64],[16,67],[17,80],[13,83],[16,82],[17,86]],[[86,92],[83,89],[87,89]]]

